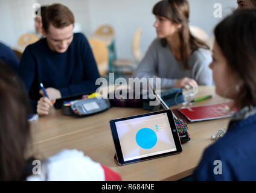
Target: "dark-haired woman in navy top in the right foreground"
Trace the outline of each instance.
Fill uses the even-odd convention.
[[[223,138],[206,148],[194,180],[256,180],[256,10],[238,10],[214,30],[216,93],[234,100]]]

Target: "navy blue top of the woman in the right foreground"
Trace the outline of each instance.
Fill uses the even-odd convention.
[[[215,160],[221,162],[214,165]],[[256,180],[255,162],[256,115],[252,115],[231,124],[223,138],[206,148],[193,179]]]

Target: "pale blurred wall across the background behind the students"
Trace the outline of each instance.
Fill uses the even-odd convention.
[[[221,21],[213,16],[215,3],[223,6],[223,17],[236,8],[236,0],[188,0],[190,2],[190,24],[196,25],[213,35],[214,26]],[[0,0],[0,41],[10,46],[16,45],[18,37],[34,31],[32,5],[55,2],[68,6],[74,13],[75,21],[80,24],[86,35],[92,34],[102,24],[115,28],[118,57],[132,58],[133,35],[142,27],[142,54],[156,37],[153,5],[158,0]]]

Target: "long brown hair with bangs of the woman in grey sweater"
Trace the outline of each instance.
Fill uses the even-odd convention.
[[[152,10],[153,14],[169,19],[173,24],[182,24],[179,31],[181,40],[181,59],[185,69],[189,69],[188,58],[190,51],[195,51],[198,48],[209,47],[202,41],[194,37],[188,26],[190,7],[187,0],[163,0],[158,2]],[[162,46],[167,46],[167,40],[162,39]]]

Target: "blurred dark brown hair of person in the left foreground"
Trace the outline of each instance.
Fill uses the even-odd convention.
[[[30,141],[30,104],[18,75],[0,61],[0,180],[21,180]]]

